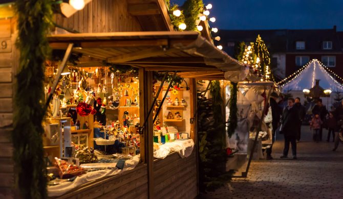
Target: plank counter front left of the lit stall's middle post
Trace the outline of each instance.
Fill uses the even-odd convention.
[[[96,181],[57,198],[147,198],[147,165]]]

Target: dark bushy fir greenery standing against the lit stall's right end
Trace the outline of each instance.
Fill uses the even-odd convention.
[[[200,191],[223,186],[231,173],[225,171],[225,125],[219,81],[212,81],[211,99],[204,99],[198,110]],[[202,92],[198,92],[198,103]]]

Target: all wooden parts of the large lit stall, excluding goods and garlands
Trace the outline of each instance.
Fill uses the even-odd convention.
[[[142,8],[147,8],[148,11]],[[13,13],[9,17],[9,19],[7,17],[0,19],[0,26],[3,27],[0,29],[0,39],[2,44],[4,41],[6,43],[6,47],[0,50],[0,70],[2,74],[5,74],[0,78],[0,83],[3,88],[6,88],[0,98],[2,101],[0,106],[3,106],[1,108],[0,141],[5,148],[0,153],[0,166],[4,168],[1,170],[0,176],[5,179],[0,187],[4,190],[4,196],[15,198],[17,191],[12,188],[14,184],[14,170],[11,162],[13,148],[6,135],[12,130],[12,90],[18,67],[18,50],[14,47],[17,37],[16,19],[13,17]],[[172,31],[170,17],[163,0],[93,0],[83,10],[72,14],[71,17],[64,18],[57,14],[55,20],[56,27],[59,28],[48,38],[50,47],[62,50],[63,53],[67,50],[72,54],[82,54],[77,66],[79,69],[105,67],[104,62],[138,68],[140,102],[138,112],[140,127],[144,127],[142,131],[139,131],[141,162],[134,169],[115,176],[105,176],[89,181],[68,190],[65,194],[56,195],[56,197],[196,197],[199,189],[198,150],[196,149],[198,140],[196,121],[194,120],[196,110],[195,78],[223,78],[224,71],[241,70],[244,66],[217,49],[209,41],[211,37],[208,34],[207,26],[202,31],[203,37],[196,32]],[[72,31],[74,34],[65,34],[66,30]],[[66,64],[68,65],[65,62],[58,66],[60,71],[67,67]],[[195,143],[195,149],[186,158],[181,158],[177,153],[171,152],[164,159],[154,159],[154,122],[153,114],[149,113],[149,108],[154,106],[154,72],[176,73],[187,79],[188,86],[179,97],[187,95],[188,105],[186,107],[166,107],[166,110],[180,108],[183,111],[183,119],[181,121],[165,119],[165,122],[174,123],[175,126],[187,126],[184,131],[188,131],[189,138]],[[57,76],[57,78],[59,77]],[[160,86],[165,86],[163,81]],[[161,99],[163,100],[162,95],[168,93],[168,89],[161,90]],[[125,111],[124,109],[127,108],[119,110]],[[62,119],[65,119],[67,123],[70,120],[69,118]],[[92,117],[89,116],[87,120],[91,121]],[[145,120],[146,122],[144,122]],[[88,134],[88,144],[92,146],[94,144],[91,141],[94,136],[93,125],[93,122],[90,122],[90,130],[72,130],[71,133]],[[47,146],[46,150],[54,150],[52,148],[54,147]]]

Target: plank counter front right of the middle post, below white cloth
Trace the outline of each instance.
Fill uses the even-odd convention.
[[[197,195],[195,151],[187,158],[173,153],[154,162],[154,198],[195,198]]]

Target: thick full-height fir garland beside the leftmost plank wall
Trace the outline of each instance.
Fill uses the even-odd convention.
[[[44,62],[50,53],[46,35],[52,21],[50,0],[17,0],[19,69],[16,76],[12,142],[16,183],[23,198],[46,198],[47,178],[41,122],[44,110]]]

